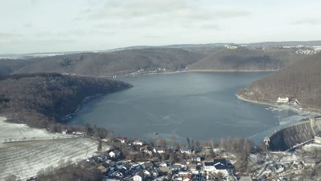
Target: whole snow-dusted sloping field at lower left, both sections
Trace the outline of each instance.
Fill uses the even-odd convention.
[[[60,160],[78,162],[97,154],[98,141],[92,138],[63,134],[58,138],[56,134],[45,130],[29,128],[24,124],[5,123],[3,119],[0,121],[0,129],[0,180],[8,174],[21,179],[29,178],[36,176],[40,169],[58,166]],[[33,140],[34,137],[36,140]],[[8,138],[12,138],[12,142]],[[110,147],[103,144],[102,149],[107,151]]]

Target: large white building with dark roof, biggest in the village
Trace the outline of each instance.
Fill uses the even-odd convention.
[[[221,172],[223,176],[229,176],[230,168],[226,159],[214,159],[213,162],[204,162],[204,170],[214,173]]]

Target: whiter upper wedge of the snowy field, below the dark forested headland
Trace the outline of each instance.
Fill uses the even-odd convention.
[[[23,123],[5,122],[5,117],[0,117],[0,147],[2,143],[12,141],[31,141],[53,138],[72,138],[67,134],[52,134],[45,129],[30,128]]]

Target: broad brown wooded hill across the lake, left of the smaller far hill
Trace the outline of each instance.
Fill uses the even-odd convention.
[[[77,53],[64,56],[35,58],[34,64],[15,73],[76,73],[79,75],[108,76],[132,73],[139,69],[158,67],[176,71],[197,62],[206,55],[182,49],[153,48],[126,49],[108,53]]]

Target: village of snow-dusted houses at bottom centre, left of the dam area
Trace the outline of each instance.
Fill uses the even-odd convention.
[[[151,147],[126,137],[110,144],[110,152],[86,160],[99,165],[105,180],[234,180],[233,164],[210,147]]]

